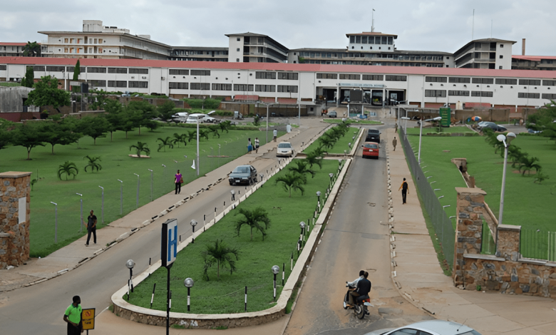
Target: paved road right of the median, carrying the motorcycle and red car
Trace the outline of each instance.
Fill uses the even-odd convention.
[[[381,148],[384,144],[381,144]],[[430,319],[393,287],[387,222],[386,158],[360,157],[344,180],[324,235],[284,334],[365,334],[368,331]],[[369,272],[370,316],[356,319],[341,306],[345,282]],[[380,313],[379,313],[380,311]]]

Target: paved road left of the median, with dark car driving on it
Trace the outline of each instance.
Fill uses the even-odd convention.
[[[307,143],[326,126],[313,121],[311,128],[304,128],[300,135],[292,138],[292,145],[298,148],[302,141]],[[274,168],[276,163],[275,151],[271,151],[264,157],[257,158],[252,164],[259,172],[266,174],[266,170]],[[83,307],[94,307],[96,314],[101,313],[110,305],[113,292],[127,283],[129,271],[125,268],[125,262],[128,259],[135,260],[134,273],[139,274],[148,267],[149,257],[153,257],[153,262],[160,257],[160,223],[167,218],[175,217],[182,239],[188,237],[191,232],[190,220],[200,222],[201,227],[197,226],[197,229],[202,229],[203,215],[214,213],[215,207],[218,207],[220,212],[224,201],[229,205],[232,189],[241,190],[242,194],[244,192],[244,187],[232,187],[227,182],[222,182],[212,190],[202,192],[186,205],[178,207],[170,215],[153,222],[91,259],[82,267],[41,284],[0,294],[0,333],[61,334],[66,327],[62,320],[63,312],[71,304],[71,297],[75,294],[81,296]],[[212,215],[207,215],[207,220],[210,217]],[[99,234],[102,234],[102,231],[99,230]]]

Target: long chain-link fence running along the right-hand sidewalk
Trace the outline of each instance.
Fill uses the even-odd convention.
[[[406,153],[409,168],[416,181],[416,187],[425,205],[425,210],[428,216],[431,217],[438,243],[441,246],[444,257],[446,257],[446,262],[448,262],[450,268],[453,269],[455,230],[452,221],[448,218],[446,212],[444,212],[440,201],[438,201],[438,197],[433,191],[433,187],[431,187],[431,182],[433,182],[433,180],[429,182],[427,177],[423,174],[423,170],[421,170],[417,162],[411,144],[403,133],[403,128],[398,128],[398,132],[403,150]]]

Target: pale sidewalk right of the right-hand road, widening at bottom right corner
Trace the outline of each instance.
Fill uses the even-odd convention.
[[[465,324],[483,335],[556,334],[554,299],[473,292],[453,286],[452,278],[444,275],[438,264],[400,140],[396,151],[393,150],[392,139],[393,136],[398,139],[398,134],[392,128],[383,133],[390,158],[393,232],[396,232],[393,280],[398,283],[401,295],[437,319]],[[406,205],[402,205],[398,191],[403,177],[409,185]]]

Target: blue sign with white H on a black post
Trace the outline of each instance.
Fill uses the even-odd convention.
[[[170,268],[177,255],[177,220],[168,219],[162,225],[160,260],[168,270],[166,282],[166,335],[170,334]]]

